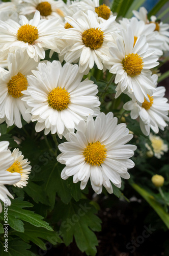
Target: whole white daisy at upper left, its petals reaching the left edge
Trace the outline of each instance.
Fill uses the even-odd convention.
[[[45,50],[57,49],[55,34],[59,29],[59,19],[41,19],[40,12],[36,11],[34,18],[30,21],[25,16],[20,16],[20,24],[8,19],[6,22],[0,20],[0,51],[4,52],[21,48],[36,61],[45,58]]]

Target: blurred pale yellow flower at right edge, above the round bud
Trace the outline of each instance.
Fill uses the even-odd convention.
[[[149,139],[151,141],[151,145],[153,147],[153,151],[154,151],[154,156],[158,159],[161,158],[161,156],[164,155],[164,152],[168,151],[168,146],[167,144],[164,144],[164,141],[159,137],[159,136],[155,136],[152,133],[150,133]],[[149,150],[149,152],[152,152],[151,147],[148,145],[148,143],[145,144],[145,146],[147,147],[147,149]]]

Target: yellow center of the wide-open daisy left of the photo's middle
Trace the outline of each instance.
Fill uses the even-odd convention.
[[[48,95],[48,103],[54,110],[65,110],[70,103],[70,95],[65,88],[54,88]]]

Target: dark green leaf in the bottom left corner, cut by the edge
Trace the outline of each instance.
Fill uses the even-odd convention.
[[[8,252],[4,251],[4,244],[0,243],[0,255],[1,256],[35,256],[35,253],[28,251],[31,245],[26,244],[25,242],[13,239],[8,240]]]

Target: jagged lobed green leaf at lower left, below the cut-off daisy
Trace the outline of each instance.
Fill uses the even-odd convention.
[[[19,232],[24,232],[23,222],[29,222],[36,227],[43,227],[47,230],[53,230],[49,224],[42,219],[42,216],[35,214],[34,211],[25,210],[22,208],[32,207],[33,204],[23,201],[23,198],[11,200],[12,204],[8,207],[8,224],[10,227]],[[4,212],[2,212],[3,216]]]

